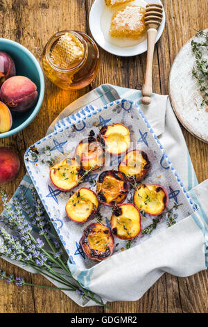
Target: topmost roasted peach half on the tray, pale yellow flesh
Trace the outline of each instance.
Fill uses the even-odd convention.
[[[130,131],[123,124],[107,125],[101,128],[99,139],[105,144],[107,152],[121,154],[130,146]]]

